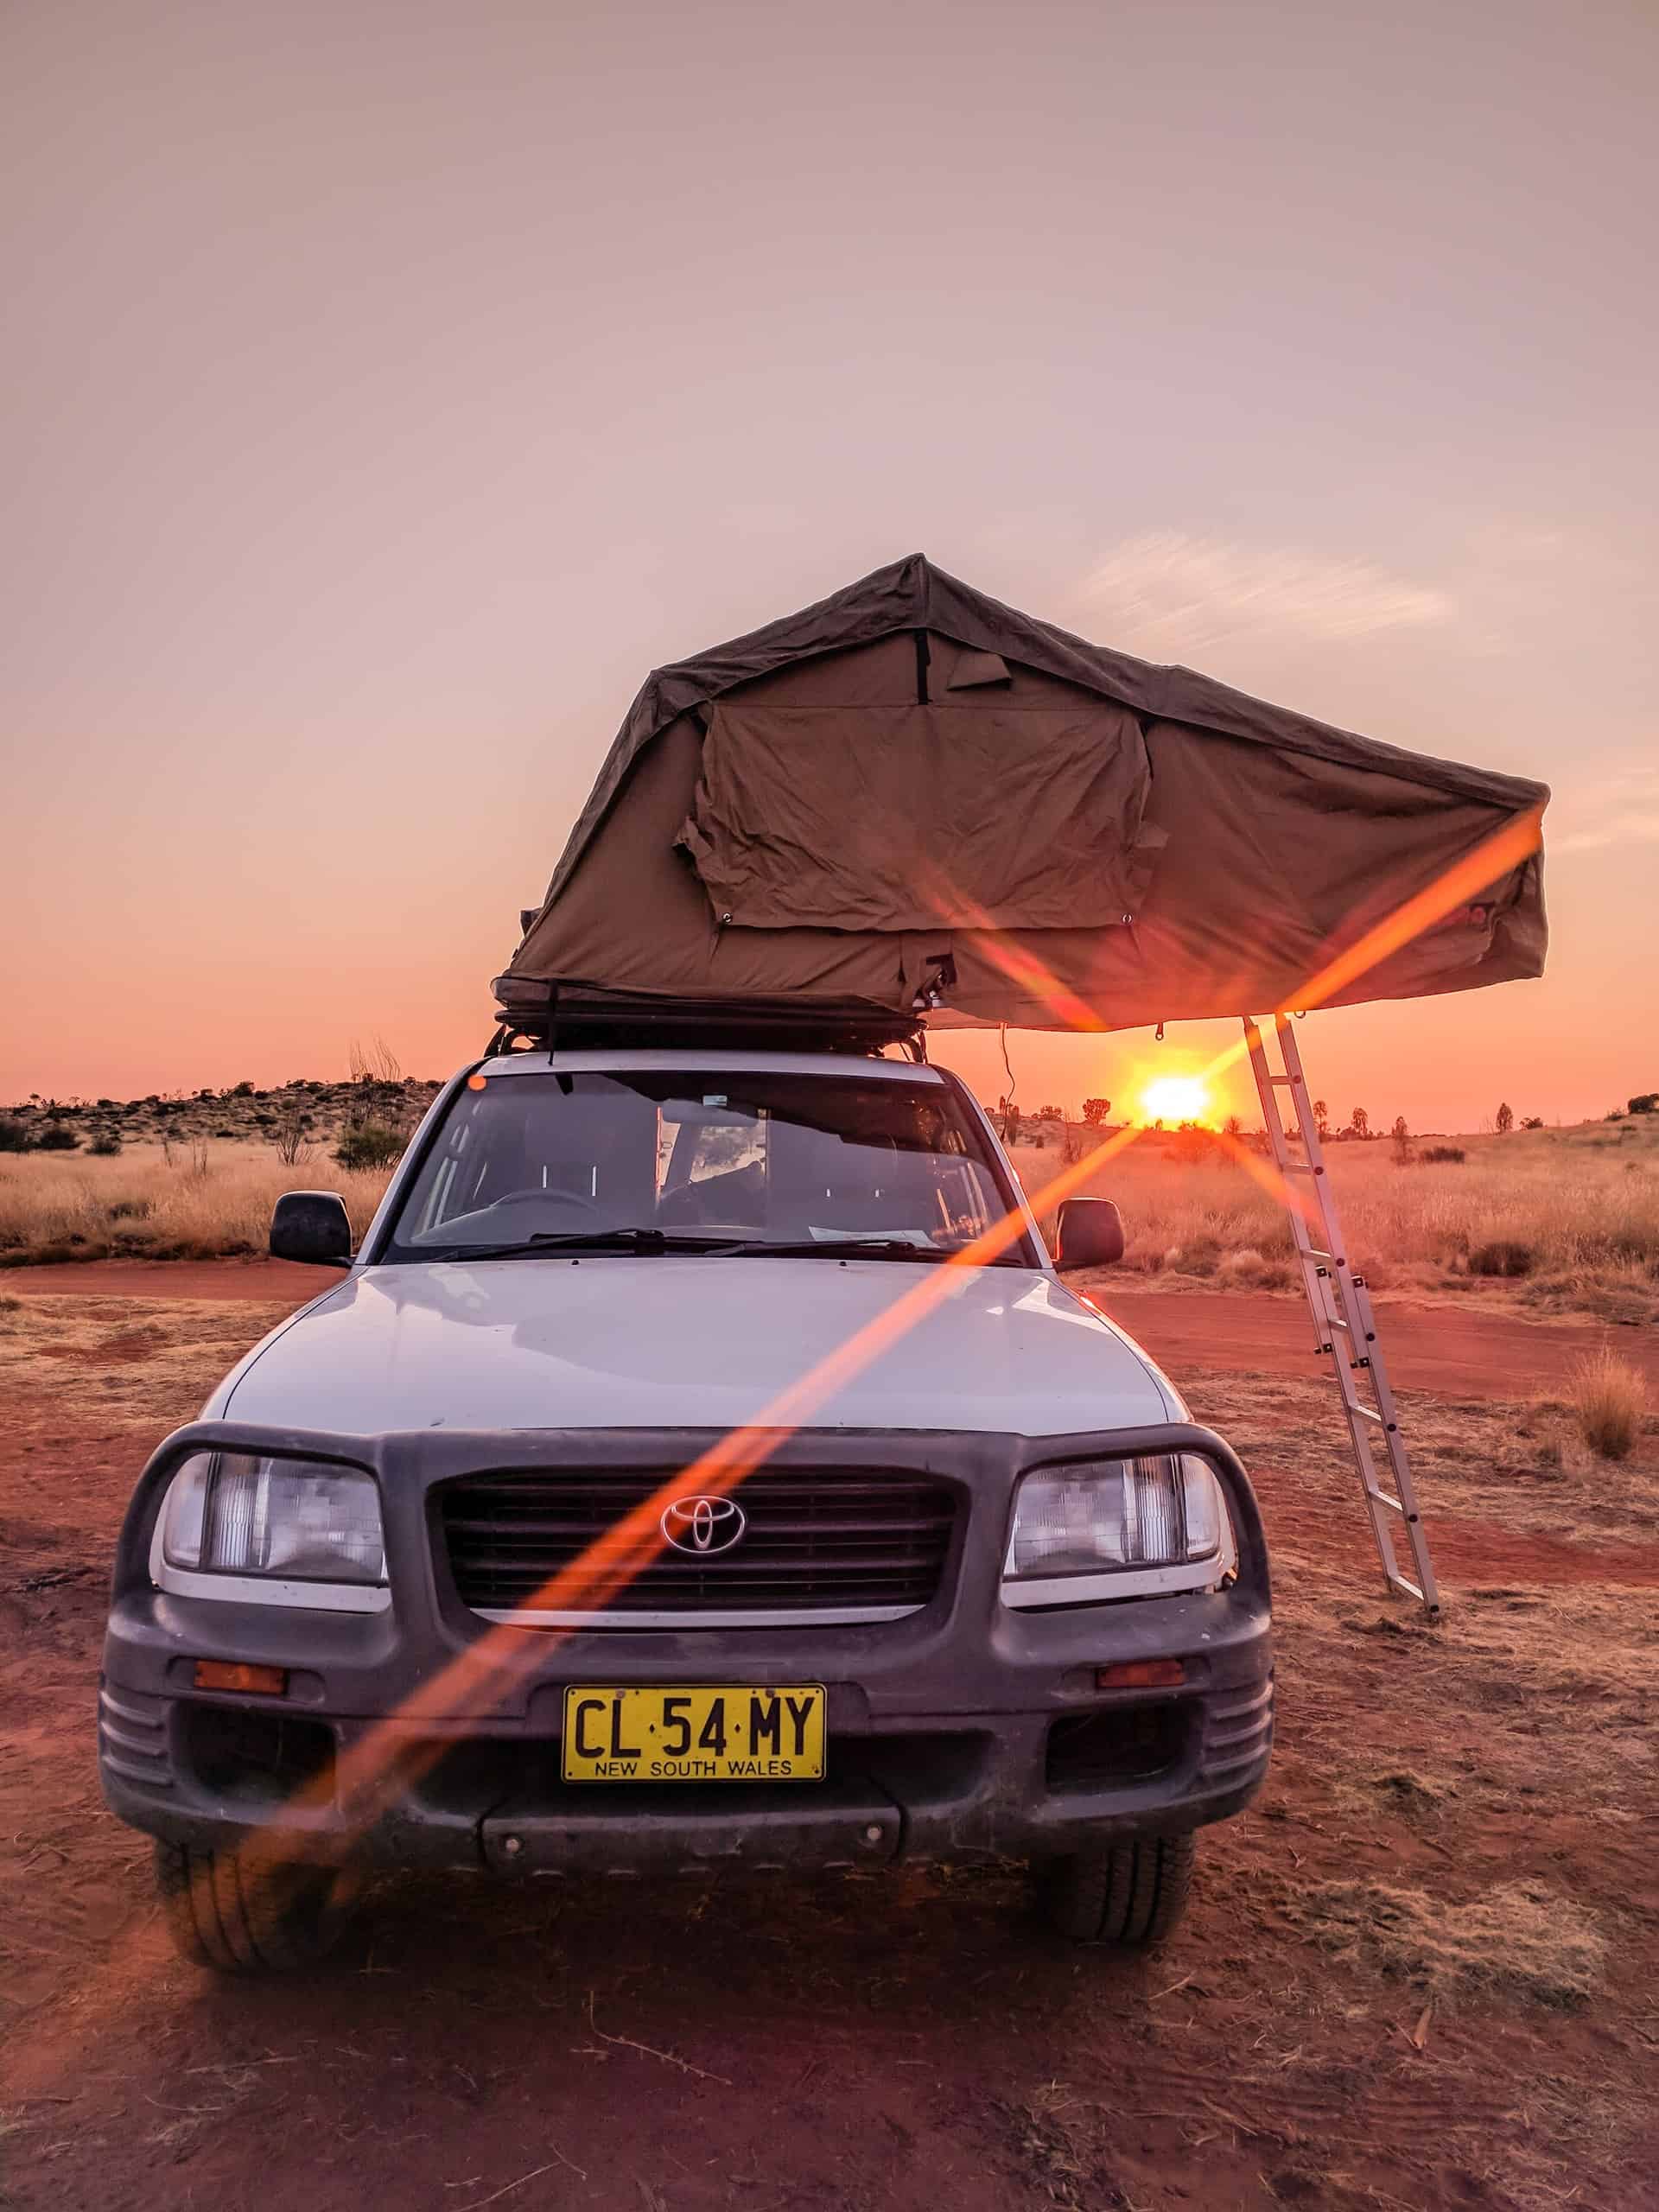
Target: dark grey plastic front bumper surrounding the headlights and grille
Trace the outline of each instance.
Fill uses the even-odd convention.
[[[540,1431],[341,1440],[201,1422],[146,1467],[122,1533],[100,1688],[111,1809],[175,1843],[254,1829],[394,1865],[633,1874],[1042,1858],[1239,1812],[1272,1743],[1267,1564],[1250,1482],[1221,1438],[1170,1425],[1082,1438],[801,1431],[770,1464],[925,1467],[962,1491],[936,1599],[878,1626],[491,1628],[456,1597],[434,1491],[511,1467],[684,1467],[712,1438]],[[150,1584],[155,1515],[192,1451],[372,1467],[394,1601],[310,1613]],[[1055,1458],[1201,1451],[1228,1491],[1225,1590],[1018,1613],[998,1599],[1018,1475]],[[487,1701],[478,1659],[498,1661]],[[279,1666],[281,1699],[195,1688],[199,1659]],[[1097,1670],[1181,1661],[1179,1688],[1102,1690]],[[566,1683],[821,1681],[823,1783],[584,1785],[560,1778]],[[380,1776],[363,1794],[363,1776]]]

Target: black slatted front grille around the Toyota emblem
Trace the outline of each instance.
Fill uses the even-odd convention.
[[[560,1568],[666,1482],[666,1469],[515,1469],[445,1484],[456,1593],[476,1613],[546,1610],[542,1593]],[[878,1467],[770,1467],[734,1495],[745,1528],[730,1551],[664,1546],[604,1595],[604,1617],[896,1617],[938,1590],[956,1526],[947,1482]]]

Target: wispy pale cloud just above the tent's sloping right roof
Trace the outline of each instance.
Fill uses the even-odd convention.
[[[1186,531],[1124,540],[1084,580],[1079,597],[1104,635],[1175,659],[1230,637],[1270,633],[1352,644],[1453,615],[1447,593],[1367,560],[1325,560]]]

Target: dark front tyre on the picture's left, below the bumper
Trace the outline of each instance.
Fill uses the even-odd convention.
[[[157,1843],[155,1887],[179,1958],[215,1973],[314,1966],[334,1949],[356,1893],[341,1867],[184,1843]]]

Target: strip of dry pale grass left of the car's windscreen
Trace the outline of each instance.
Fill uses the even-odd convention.
[[[168,1157],[170,1152],[170,1157]],[[389,1168],[316,1157],[285,1166],[268,1144],[135,1144],[0,1157],[0,1265],[64,1259],[217,1259],[263,1252],[283,1190],[338,1190],[369,1225]]]

